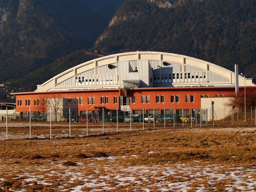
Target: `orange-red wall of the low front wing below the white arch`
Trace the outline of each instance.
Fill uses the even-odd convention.
[[[256,87],[246,87],[247,90],[256,91]],[[244,88],[239,87],[239,92],[243,92]],[[22,106],[17,105],[17,112],[28,112],[31,107],[31,112],[41,111],[34,106],[34,99],[46,98],[45,94],[59,94],[59,97],[83,97],[83,105],[78,105],[79,111],[89,110],[90,107],[105,107],[107,110],[116,110],[119,108],[119,96],[122,96],[121,89],[100,89],[100,90],[77,90],[65,92],[28,92],[15,93],[16,103],[18,99],[22,99]],[[130,96],[130,107],[132,110],[138,109],[200,109],[200,95],[216,97],[216,94],[223,94],[225,97],[234,96],[234,87],[170,87],[170,88],[137,88],[128,89],[125,92],[126,96]],[[150,103],[141,103],[141,96],[150,96]],[[156,95],[164,95],[164,103],[156,103]],[[179,103],[171,103],[171,95],[179,95]],[[185,95],[194,95],[194,102],[185,102]],[[95,105],[88,105],[88,96],[95,96]],[[101,104],[101,96],[108,96],[108,104]],[[117,96],[117,104],[114,104],[114,96]],[[136,102],[132,103],[132,96],[135,96]],[[25,100],[31,99],[31,106],[25,106]],[[160,98],[159,98],[160,100]],[[79,102],[79,101],[78,101]],[[160,101],[161,102],[161,101]],[[17,103],[18,104],[18,103]],[[97,110],[97,109],[91,109]]]

